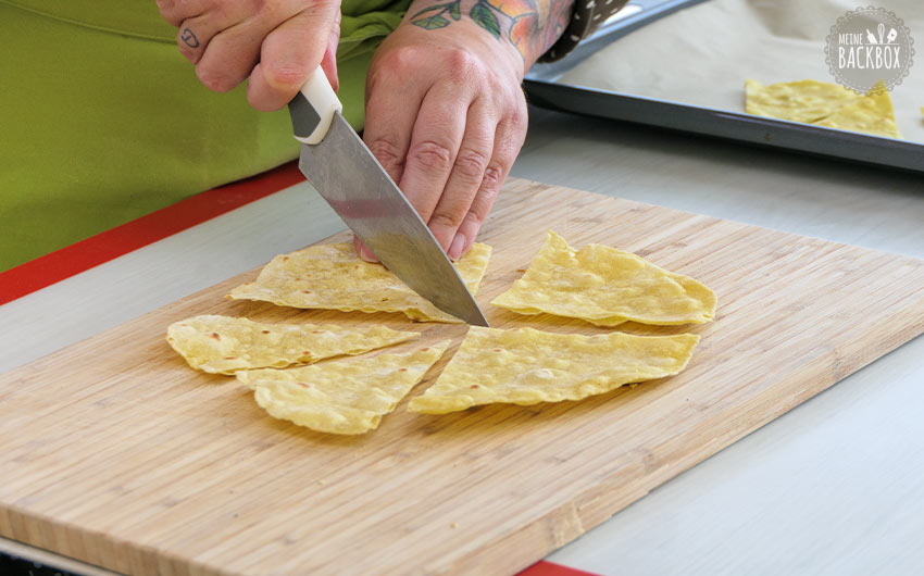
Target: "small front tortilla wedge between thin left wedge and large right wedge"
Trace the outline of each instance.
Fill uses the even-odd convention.
[[[378,427],[449,347],[449,340],[403,354],[333,360],[289,370],[239,372],[271,416],[329,434]]]

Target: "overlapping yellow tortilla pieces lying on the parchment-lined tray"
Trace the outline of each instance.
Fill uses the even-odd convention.
[[[901,138],[885,84],[860,95],[837,84],[799,80],[769,86],[745,82],[745,111],[828,128]]]

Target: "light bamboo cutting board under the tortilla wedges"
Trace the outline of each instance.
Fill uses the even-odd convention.
[[[269,417],[164,341],[196,314],[384,323],[415,348],[465,327],[222,297],[232,278],[0,375],[0,535],[137,574],[509,574],[924,331],[924,262],[511,180],[480,240],[495,327],[607,331],[487,304],[552,228],[690,275],[716,321],[673,378],[582,402],[404,411],[362,437]],[[342,236],[340,238],[344,238]]]

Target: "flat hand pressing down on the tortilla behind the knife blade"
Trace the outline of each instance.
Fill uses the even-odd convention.
[[[516,48],[471,21],[451,32],[404,22],[386,38],[366,79],[363,139],[454,260],[523,146],[526,100]]]

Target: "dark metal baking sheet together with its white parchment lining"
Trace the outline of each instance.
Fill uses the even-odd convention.
[[[534,66],[524,88],[533,104],[553,110],[924,172],[921,55],[892,91],[903,140],[744,112],[746,78],[833,82],[817,38],[856,8],[845,1],[819,0],[807,11],[803,0],[633,0],[565,59]],[[904,12],[912,35],[924,32],[920,10]]]

